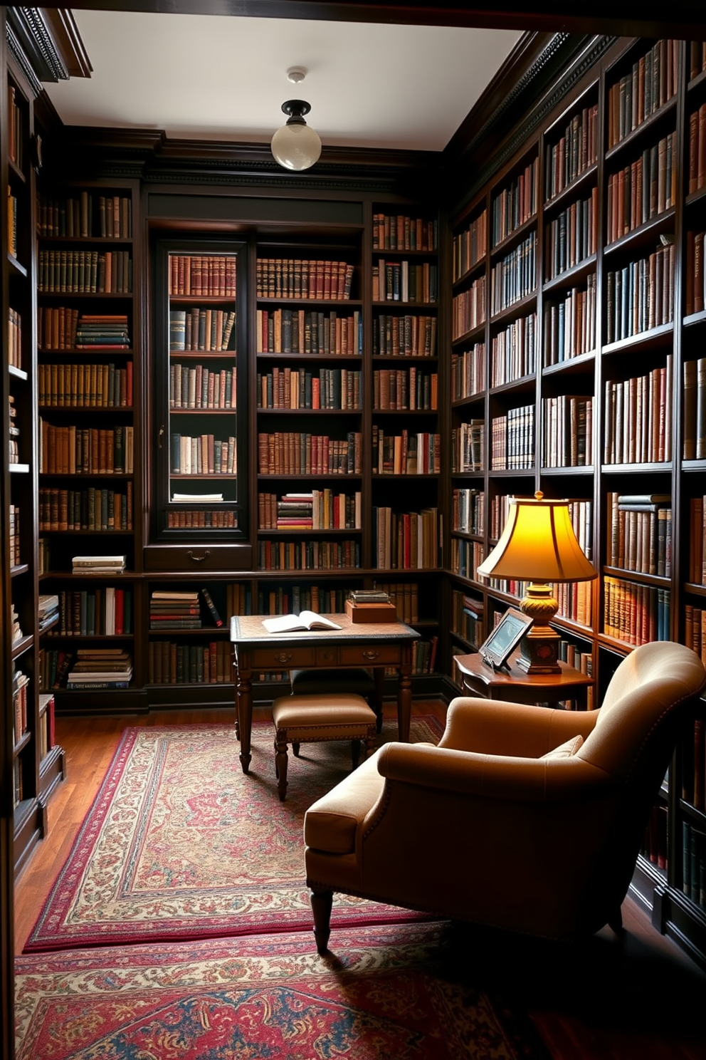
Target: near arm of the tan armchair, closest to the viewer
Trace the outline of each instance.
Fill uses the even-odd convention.
[[[616,783],[602,770],[576,756],[546,761],[409,743],[381,747],[378,772],[386,782],[523,802],[565,800]]]

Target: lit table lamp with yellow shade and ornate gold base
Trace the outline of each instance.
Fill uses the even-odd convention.
[[[518,666],[526,673],[559,673],[559,634],[549,622],[559,604],[551,583],[585,582],[597,577],[576,540],[567,500],[510,497],[505,529],[492,552],[478,565],[483,578],[528,582],[521,611],[532,624],[520,641]]]

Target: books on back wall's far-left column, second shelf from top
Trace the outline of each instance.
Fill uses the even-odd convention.
[[[132,290],[129,250],[40,250],[37,289],[42,295],[119,295]]]

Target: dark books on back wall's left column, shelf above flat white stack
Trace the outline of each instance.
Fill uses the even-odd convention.
[[[90,485],[39,489],[39,530],[132,530],[132,482],[121,490]]]

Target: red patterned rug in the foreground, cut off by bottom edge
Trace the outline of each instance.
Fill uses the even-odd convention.
[[[449,925],[17,958],[17,1060],[548,1060],[529,1020],[464,984]],[[467,958],[467,955],[466,955]]]

